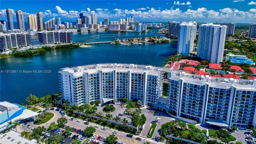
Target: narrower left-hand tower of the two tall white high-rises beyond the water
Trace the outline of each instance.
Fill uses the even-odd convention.
[[[178,54],[189,55],[194,48],[196,38],[196,22],[182,22],[178,26]]]

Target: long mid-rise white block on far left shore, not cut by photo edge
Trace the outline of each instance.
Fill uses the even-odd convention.
[[[59,30],[59,31],[45,31],[38,32],[39,42],[42,44],[48,43],[72,43],[73,31],[72,30]]]

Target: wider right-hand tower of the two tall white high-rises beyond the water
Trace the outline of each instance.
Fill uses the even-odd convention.
[[[198,57],[212,63],[220,63],[223,59],[227,26],[220,24],[202,24],[198,34]]]

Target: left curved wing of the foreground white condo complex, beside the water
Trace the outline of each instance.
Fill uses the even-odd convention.
[[[62,97],[70,102],[89,104],[100,100],[141,100],[155,103],[162,95],[161,68],[135,64],[95,64],[65,68],[60,73]]]

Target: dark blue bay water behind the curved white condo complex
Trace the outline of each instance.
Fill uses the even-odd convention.
[[[120,32],[114,32],[116,33]],[[75,34],[74,41],[100,42],[120,37],[145,37],[145,33],[144,35],[134,34],[136,33],[120,33],[116,36],[108,36],[106,33],[102,36],[98,33],[80,34],[80,36]],[[173,54],[176,48],[177,42],[142,46],[95,44],[90,48],[66,48],[36,56],[4,58],[0,60],[1,70],[51,70],[51,73],[1,73],[0,101],[21,104],[26,102],[25,99],[30,93],[36,96],[58,93],[60,68],[106,62],[162,66],[167,56]]]

